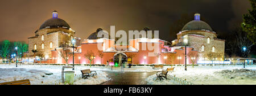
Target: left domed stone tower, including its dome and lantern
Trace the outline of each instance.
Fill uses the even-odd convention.
[[[58,12],[52,12],[52,18],[44,21],[35,36],[28,38],[28,56],[34,55],[32,50],[42,51],[45,58],[51,58],[51,51],[60,46],[64,37],[75,38],[77,45],[80,45],[80,38],[75,37],[75,30],[63,19],[58,18]]]

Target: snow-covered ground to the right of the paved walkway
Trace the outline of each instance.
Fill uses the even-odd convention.
[[[256,66],[243,65],[237,66],[174,66],[174,72],[168,75],[176,76],[182,80],[187,80],[197,85],[240,85],[240,84],[256,84]],[[164,68],[166,69],[166,67]],[[174,84],[171,80],[159,81],[156,75],[146,78],[148,84]]]

